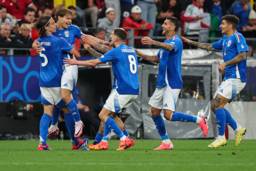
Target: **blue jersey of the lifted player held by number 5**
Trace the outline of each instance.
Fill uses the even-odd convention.
[[[76,25],[70,25],[67,29],[63,30],[58,30],[58,28],[56,28],[56,32],[53,34],[53,36],[66,39],[70,45],[74,45],[75,38],[81,39],[82,35],[83,32]]]

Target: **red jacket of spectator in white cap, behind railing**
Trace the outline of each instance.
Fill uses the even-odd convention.
[[[123,21],[123,25],[122,28],[124,29],[134,29],[134,28],[141,28],[141,24],[144,24],[146,21],[145,20],[140,20],[139,22],[135,22],[132,19],[132,16],[127,16],[124,21]],[[147,29],[152,29],[153,25],[152,24],[147,24],[146,25]],[[134,30],[134,36],[148,36],[150,30]],[[126,31],[128,34],[128,31]],[[136,39],[135,42],[137,44],[142,44],[141,43],[141,39]]]

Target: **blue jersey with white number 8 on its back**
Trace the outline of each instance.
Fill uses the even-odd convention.
[[[113,89],[121,95],[139,95],[138,62],[133,47],[122,44],[98,59],[103,63],[112,62]]]

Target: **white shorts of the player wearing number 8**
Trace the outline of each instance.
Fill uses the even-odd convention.
[[[112,89],[104,107],[112,112],[121,113],[122,109],[129,107],[138,95],[120,95],[116,89]]]

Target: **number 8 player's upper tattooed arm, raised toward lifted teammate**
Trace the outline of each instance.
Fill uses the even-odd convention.
[[[81,37],[81,39],[82,39],[83,42],[86,42],[88,45],[93,46],[94,48],[98,49],[103,54],[107,53],[109,50],[112,49],[112,48],[109,48],[109,47],[107,47],[103,44],[100,44],[100,42],[97,42],[97,41],[93,40],[92,37],[93,36],[83,35]],[[101,40],[101,41],[103,41],[103,40]]]

